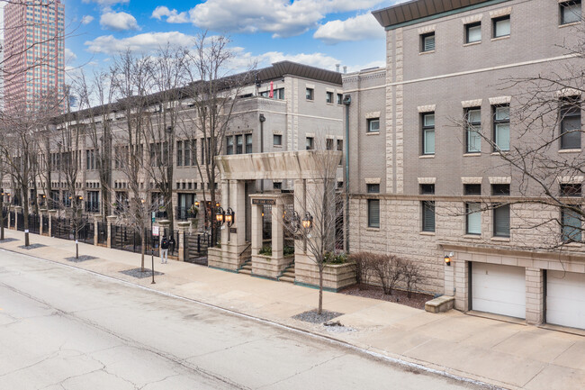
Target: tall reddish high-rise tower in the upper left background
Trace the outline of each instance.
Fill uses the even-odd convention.
[[[4,106],[63,102],[65,7],[60,0],[21,0],[4,7]],[[26,104],[26,105],[24,105]]]

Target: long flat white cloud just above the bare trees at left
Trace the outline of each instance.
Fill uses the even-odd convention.
[[[176,46],[192,46],[194,37],[183,32],[147,32],[133,37],[118,39],[113,35],[103,35],[94,41],[86,41],[87,50],[94,53],[113,54],[123,50],[150,52],[167,43]]]

